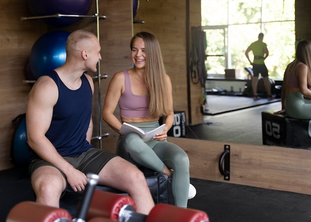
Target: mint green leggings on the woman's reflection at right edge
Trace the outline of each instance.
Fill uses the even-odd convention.
[[[286,114],[295,119],[311,119],[311,99],[305,99],[301,92],[291,92],[286,95]]]

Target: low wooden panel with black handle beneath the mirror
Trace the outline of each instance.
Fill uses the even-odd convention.
[[[311,194],[311,152],[306,149],[169,138],[190,159],[193,178]],[[230,180],[219,171],[224,146],[230,146]]]

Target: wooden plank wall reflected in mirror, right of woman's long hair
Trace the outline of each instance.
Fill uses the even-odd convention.
[[[200,104],[203,103],[202,87],[190,83],[191,104],[187,100],[187,53],[186,53],[186,12],[190,11],[190,26],[201,24],[201,1],[190,0],[140,0],[136,20],[144,20],[145,24],[134,24],[134,33],[148,31],[158,39],[162,51],[167,74],[173,87],[174,109],[186,112],[189,124],[203,123]],[[188,112],[190,106],[190,118]]]

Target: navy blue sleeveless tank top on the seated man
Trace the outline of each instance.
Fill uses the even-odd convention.
[[[46,137],[62,156],[76,156],[93,146],[86,141],[92,113],[92,90],[84,74],[77,90],[69,89],[55,71],[48,74],[58,86],[59,96],[53,109]]]

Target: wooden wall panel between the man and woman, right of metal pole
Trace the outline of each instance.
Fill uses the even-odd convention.
[[[130,69],[133,66],[130,49],[130,41],[133,35],[133,16],[132,0],[100,0],[99,2],[100,11],[106,15],[106,19],[100,21],[99,27],[102,57],[100,62],[101,73],[108,75],[107,79],[101,80],[100,93],[102,107],[105,93],[113,74],[123,69]],[[115,115],[119,117],[118,108],[116,109]],[[93,121],[96,124],[94,116]],[[109,133],[107,138],[102,139],[102,147],[108,151],[115,152],[119,134],[111,130],[105,122],[101,122],[102,132]],[[95,134],[96,132],[93,133],[93,135]],[[96,144],[94,145],[96,146]]]

